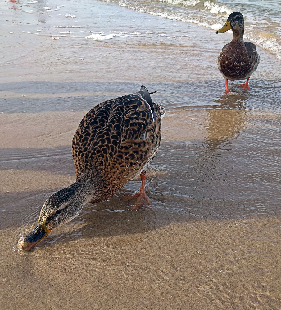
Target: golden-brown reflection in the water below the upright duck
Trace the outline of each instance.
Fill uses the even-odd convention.
[[[207,112],[207,136],[204,144],[206,152],[225,149],[238,138],[246,123],[246,100],[245,95],[224,95],[214,100],[219,103],[220,109],[210,109]]]

